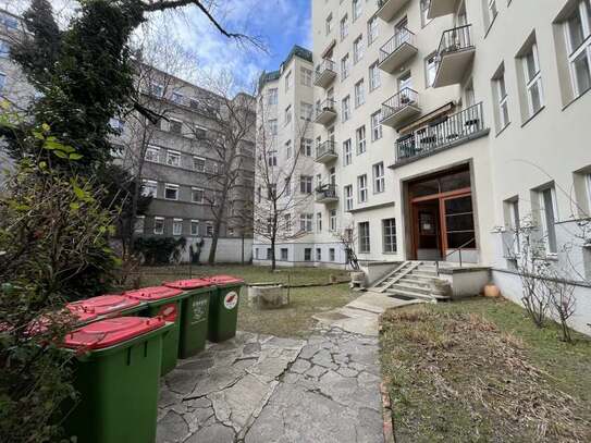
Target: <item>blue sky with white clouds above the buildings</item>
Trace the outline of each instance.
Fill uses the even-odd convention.
[[[76,7],[75,0],[50,1],[63,17]],[[262,71],[276,70],[294,45],[311,46],[311,0],[219,0],[218,3],[212,13],[226,30],[256,37],[266,50],[229,40],[193,5],[174,13],[151,14],[151,28],[164,26],[165,33],[190,53],[198,70],[207,71],[208,75],[230,71],[245,88]],[[26,4],[27,0],[0,0],[0,8],[16,13]],[[197,78],[187,79],[199,83]]]

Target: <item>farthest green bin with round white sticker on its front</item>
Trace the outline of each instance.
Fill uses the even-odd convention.
[[[236,335],[239,294],[244,280],[232,275],[209,276],[207,280],[217,287],[209,302],[207,339],[219,343]]]

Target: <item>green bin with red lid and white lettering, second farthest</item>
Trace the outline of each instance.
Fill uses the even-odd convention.
[[[209,299],[216,286],[209,280],[189,279],[164,283],[167,287],[185,291],[181,312],[178,358],[188,358],[204,350],[207,339]]]

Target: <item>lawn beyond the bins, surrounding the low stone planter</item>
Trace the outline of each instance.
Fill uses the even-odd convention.
[[[282,268],[270,272],[269,268],[255,266],[216,266],[192,267],[193,278],[200,275],[230,274],[244,279],[246,283],[278,282],[297,284],[324,284],[330,275],[340,279],[348,276],[348,272],[321,268]],[[182,267],[158,267],[141,269],[141,286],[160,284],[162,281],[187,279],[189,269]],[[238,310],[238,329],[278,336],[306,336],[311,332],[318,312],[342,307],[355,299],[347,283],[294,287],[290,291],[291,304],[281,309],[258,310],[248,306],[246,290],[243,291]]]

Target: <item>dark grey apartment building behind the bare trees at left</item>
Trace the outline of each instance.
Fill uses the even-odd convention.
[[[17,65],[9,59],[12,44],[22,38],[21,19],[0,11],[0,98],[24,109],[35,98]],[[232,110],[239,123],[255,121],[254,98],[246,94],[224,97],[195,86],[153,66],[136,64],[143,104],[159,116],[156,124],[137,114],[125,121],[111,120],[120,131],[113,145],[120,149],[115,161],[137,174],[144,195],[152,197],[145,216],[135,224],[135,235],[185,237],[188,246],[199,243],[201,260],[207,259],[214,220],[212,204],[220,196],[220,177],[227,157],[220,149],[230,130]],[[224,122],[227,123],[224,125]],[[254,195],[255,124],[249,123],[236,146],[232,162],[238,170],[236,186],[227,200],[227,214],[220,230],[217,260],[249,261],[253,253],[251,201]],[[234,132],[236,134],[236,132]],[[0,149],[0,165],[10,159]]]

